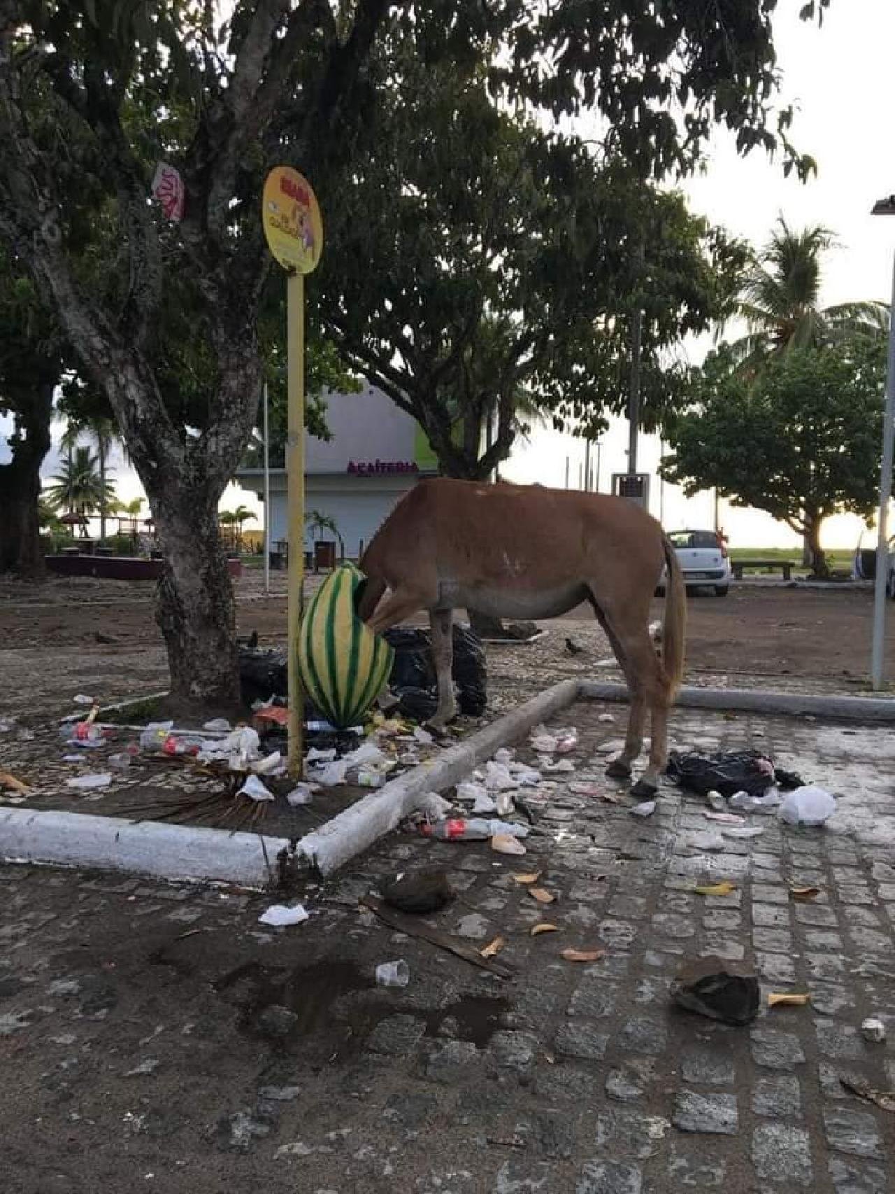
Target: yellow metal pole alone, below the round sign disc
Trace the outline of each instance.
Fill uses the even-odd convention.
[[[286,681],[289,685],[289,774],[301,776],[304,694],[298,676],[298,622],[304,584],[304,276],[286,282],[289,427],[286,435],[286,509],[289,527],[289,604]]]

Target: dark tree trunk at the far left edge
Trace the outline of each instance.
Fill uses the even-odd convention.
[[[0,464],[0,573],[12,571],[32,580],[47,574],[38,503],[41,464],[50,450],[55,386],[55,381],[43,382],[32,398],[17,404],[19,437],[12,442],[11,462]]]

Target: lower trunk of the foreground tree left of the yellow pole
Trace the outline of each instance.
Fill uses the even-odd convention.
[[[171,696],[189,709],[232,709],[240,698],[236,607],[217,533],[214,487],[150,494],[165,547],[155,620],[165,635]]]

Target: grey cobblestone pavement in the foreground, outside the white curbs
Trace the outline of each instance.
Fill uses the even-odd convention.
[[[395,835],[308,890],[295,928],[260,925],[258,894],[0,868],[4,1190],[895,1188],[895,1116],[839,1081],[895,1087],[890,1040],[859,1027],[874,1014],[895,1034],[891,733],[678,712],[679,745],[758,743],[841,796],[822,830],[752,816],[760,836],[718,838],[671,786],[648,820],[570,789],[618,790],[601,747],[622,719],[600,712],[563,719],[576,771],[532,795],[525,858]],[[477,947],[502,936],[513,978],[358,909],[416,866],[446,868],[458,892],[432,923]],[[553,904],[514,881],[531,870]],[[695,893],[721,878],[732,894]],[[794,884],[816,900],[795,903]],[[541,921],[560,931],[532,937]],[[569,962],[567,947],[605,956]],[[672,1008],[675,970],[706,953],[811,1005],[748,1028]],[[409,985],[377,987],[375,965],[395,958]]]

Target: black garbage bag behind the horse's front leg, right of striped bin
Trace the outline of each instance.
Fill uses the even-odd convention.
[[[430,632],[394,627],[383,638],[395,652],[389,688],[399,698],[401,712],[416,721],[427,721],[438,706]],[[482,641],[468,626],[453,627],[452,673],[459,712],[481,716],[488,703],[488,670]]]

